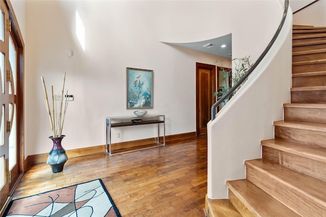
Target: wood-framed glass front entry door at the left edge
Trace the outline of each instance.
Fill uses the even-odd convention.
[[[24,45],[16,23],[12,6],[0,0],[0,208],[23,173]]]

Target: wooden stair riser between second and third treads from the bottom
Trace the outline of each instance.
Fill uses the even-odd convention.
[[[302,216],[323,216],[326,214],[326,207],[317,200],[307,198],[301,192],[298,192],[294,187],[286,185],[277,179],[269,176],[264,172],[258,171],[247,165],[247,180],[257,185],[269,195],[277,198],[289,208],[296,211]]]

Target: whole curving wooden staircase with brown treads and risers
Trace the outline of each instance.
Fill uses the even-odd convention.
[[[326,27],[293,26],[291,103],[274,128],[229,199],[206,197],[207,216],[326,216]]]

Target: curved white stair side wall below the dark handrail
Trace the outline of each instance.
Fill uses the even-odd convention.
[[[245,178],[244,161],[261,158],[260,141],[274,138],[273,121],[283,119],[283,103],[290,102],[291,51],[292,12],[289,9],[276,43],[248,81],[208,123],[209,198],[227,198],[225,181]]]

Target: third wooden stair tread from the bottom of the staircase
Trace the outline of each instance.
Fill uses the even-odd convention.
[[[326,182],[279,164],[270,163],[264,159],[249,160],[244,162],[244,164],[264,174],[268,174],[270,178],[282,182],[288,188],[294,189],[305,197],[317,200],[326,206]]]

